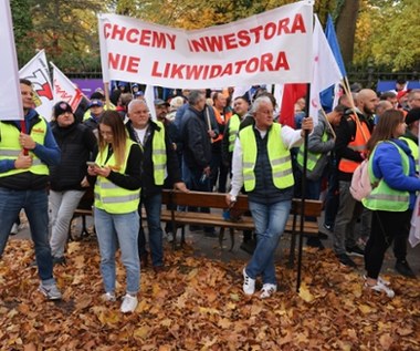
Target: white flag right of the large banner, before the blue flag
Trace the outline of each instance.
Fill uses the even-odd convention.
[[[322,107],[319,93],[343,79],[317,16],[315,16],[312,48],[313,80],[311,83],[309,116],[314,118],[314,124],[316,125],[318,122],[318,111]]]

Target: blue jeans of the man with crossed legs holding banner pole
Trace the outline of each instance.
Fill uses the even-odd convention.
[[[250,202],[258,238],[255,251],[246,266],[246,275],[252,279],[262,275],[263,283],[276,283],[274,255],[286,226],[291,204],[291,200],[271,205]]]

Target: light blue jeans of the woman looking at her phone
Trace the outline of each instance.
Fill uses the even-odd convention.
[[[114,215],[95,207],[95,228],[101,251],[101,273],[106,292],[115,291],[115,251],[119,245],[126,269],[127,293],[136,295],[140,285],[137,250],[138,213]]]

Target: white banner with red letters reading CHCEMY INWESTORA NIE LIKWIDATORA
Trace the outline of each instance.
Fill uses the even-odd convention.
[[[189,89],[307,83],[312,22],[311,0],[195,31],[101,14],[104,82]]]

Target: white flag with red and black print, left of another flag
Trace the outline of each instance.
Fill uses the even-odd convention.
[[[32,60],[19,71],[19,75],[32,82],[35,93],[35,109],[40,115],[50,121],[54,105],[54,96],[44,50],[35,54]]]

